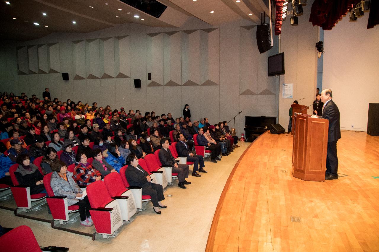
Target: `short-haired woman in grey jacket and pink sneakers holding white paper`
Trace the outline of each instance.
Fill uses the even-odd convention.
[[[51,174],[50,186],[54,192],[55,196],[66,196],[67,205],[78,205],[80,224],[86,227],[92,226],[92,218],[89,213],[88,197],[85,196],[83,199],[77,199],[83,197],[83,191],[75,183],[72,178],[72,173],[67,171],[67,166],[64,162],[59,161],[53,166],[53,173]]]

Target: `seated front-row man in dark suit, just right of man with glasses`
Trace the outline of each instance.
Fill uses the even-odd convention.
[[[176,151],[178,152],[179,157],[187,157],[187,161],[194,162],[192,176],[201,177],[201,175],[196,171],[199,171],[200,173],[207,173],[208,171],[203,169],[205,167],[204,158],[200,155],[194,155],[191,151],[189,151],[188,144],[185,142],[183,134],[177,134],[177,138],[179,141],[176,144]]]

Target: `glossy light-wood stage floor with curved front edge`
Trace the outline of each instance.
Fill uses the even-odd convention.
[[[325,182],[292,176],[291,135],[252,143],[227,180],[206,251],[379,251],[379,137],[341,134],[340,177]]]

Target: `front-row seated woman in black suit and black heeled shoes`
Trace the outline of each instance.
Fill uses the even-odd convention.
[[[142,195],[150,195],[153,203],[153,210],[158,215],[161,214],[159,208],[166,208],[162,201],[164,200],[163,187],[160,184],[155,184],[140,165],[138,165],[138,157],[136,154],[129,154],[126,158],[128,167],[125,171],[125,177],[132,187],[142,187]]]

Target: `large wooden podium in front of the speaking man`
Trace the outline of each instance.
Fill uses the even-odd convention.
[[[294,114],[292,174],[302,180],[324,181],[329,121]]]

